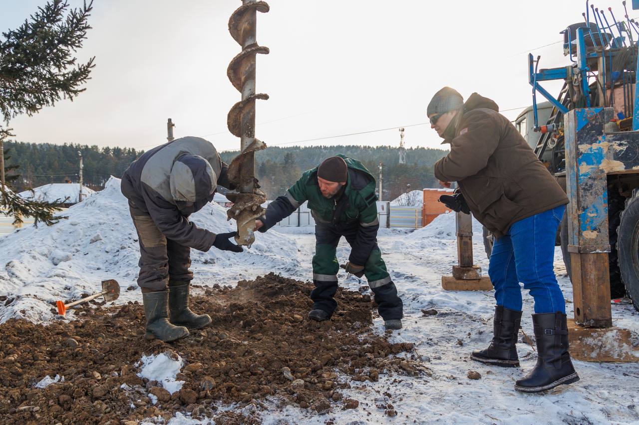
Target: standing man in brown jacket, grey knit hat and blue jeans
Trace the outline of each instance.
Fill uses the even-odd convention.
[[[450,87],[433,96],[427,108],[431,128],[450,144],[450,153],[435,163],[435,177],[445,187],[456,181],[458,202],[465,202],[495,237],[488,267],[497,304],[493,339],[470,357],[495,366],[519,366],[523,283],[535,300],[538,357],[515,389],[539,392],[579,380],[568,354],[564,295],[553,271],[555,234],[568,198],[498,111],[497,103],[477,93],[465,103]]]

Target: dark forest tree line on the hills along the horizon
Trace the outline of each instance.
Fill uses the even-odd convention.
[[[109,177],[121,177],[132,161],[144,151],[129,147],[97,147],[80,144],[4,143],[8,182],[17,191],[48,183],[79,182],[82,154],[84,184],[100,190]],[[290,146],[269,147],[256,153],[256,174],[268,199],[283,195],[304,170],[316,167],[328,156],[344,154],[362,161],[379,179],[383,163],[383,200],[392,200],[410,190],[437,187],[433,164],[447,153],[442,149],[406,149],[406,164],[399,164],[397,147],[390,146]],[[220,153],[230,163],[237,151]],[[410,186],[407,186],[410,184]]]

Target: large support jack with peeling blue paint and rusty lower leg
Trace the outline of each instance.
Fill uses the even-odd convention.
[[[573,279],[571,355],[582,361],[639,361],[636,334],[613,327],[608,253],[609,174],[639,170],[639,133],[606,133],[613,108],[574,109],[566,114],[568,251]]]

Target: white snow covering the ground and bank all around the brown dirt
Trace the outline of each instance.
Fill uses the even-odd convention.
[[[140,299],[135,288],[137,235],[128,216],[127,204],[119,193],[119,181],[66,212],[68,220],[53,227],[24,228],[0,237],[0,296],[17,299],[0,303],[0,322],[24,317],[47,322],[50,302],[96,292],[100,281],[119,281],[121,304]],[[224,209],[210,205],[194,214],[193,220],[214,232],[231,229]],[[268,271],[309,280],[314,253],[313,227],[280,227],[258,234],[250,251],[235,255],[213,248],[193,252],[194,283],[231,285]],[[475,262],[488,269],[481,241],[481,227],[473,223]],[[431,377],[380,376],[379,382],[353,387],[346,396],[360,401],[357,409],[335,410],[328,415],[311,415],[309,410],[289,406],[272,409],[262,417],[267,424],[380,424],[380,423],[505,423],[505,424],[590,424],[639,423],[639,364],[599,364],[575,361],[581,380],[560,386],[544,395],[520,394],[514,381],[535,364],[536,355],[526,344],[518,344],[521,368],[498,368],[470,361],[473,348],[484,348],[491,338],[494,299],[491,292],[447,292],[441,276],[456,264],[454,215],[445,214],[425,228],[381,229],[379,244],[389,272],[404,301],[404,329],[390,338],[415,343],[417,354],[433,370]],[[346,262],[350,248],[342,241],[337,250]],[[561,251],[555,251],[555,269],[572,315],[572,288],[565,275]],[[366,285],[355,276],[341,273],[340,285],[357,289]],[[127,290],[127,288],[132,288]],[[523,294],[523,331],[532,334],[532,299]],[[8,301],[7,299],[7,301]],[[436,309],[424,316],[422,309]],[[67,315],[73,315],[72,311]],[[613,305],[615,325],[639,331],[639,314],[631,306]],[[376,332],[383,332],[381,318],[374,320]],[[481,373],[470,380],[468,371]],[[385,395],[387,392],[391,395]],[[376,405],[391,403],[396,417]],[[233,408],[227,406],[226,408]],[[177,414],[171,424],[197,424]],[[206,423],[206,422],[204,422]]]

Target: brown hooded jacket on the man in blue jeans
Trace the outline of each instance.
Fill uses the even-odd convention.
[[[450,153],[435,163],[435,177],[457,181],[473,216],[497,238],[515,221],[568,203],[555,177],[498,110],[497,103],[473,93],[445,130]]]

